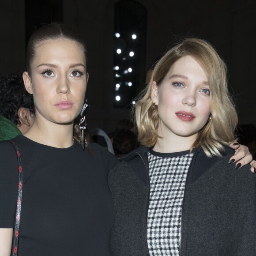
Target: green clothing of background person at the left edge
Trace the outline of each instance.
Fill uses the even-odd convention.
[[[0,115],[0,141],[13,139],[21,134],[19,128],[9,119]]]

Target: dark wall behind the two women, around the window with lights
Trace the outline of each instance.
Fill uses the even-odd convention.
[[[114,6],[118,0],[0,0],[0,75],[25,69],[26,34],[38,16],[62,19],[87,43],[89,127],[106,132],[129,109],[113,108]],[[146,69],[184,36],[210,41],[226,60],[239,124],[256,124],[256,3],[254,0],[138,0],[147,10]],[[45,8],[46,7],[46,8]],[[34,16],[29,8],[37,11]],[[32,15],[32,16],[31,16]],[[34,17],[34,18],[33,18]],[[136,85],[138,90],[144,84]]]

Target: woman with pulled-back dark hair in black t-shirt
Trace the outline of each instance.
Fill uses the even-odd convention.
[[[23,173],[13,252],[18,162],[13,145],[0,144],[0,255],[111,255],[107,175],[117,159],[97,144],[83,151],[73,138],[88,80],[83,41],[61,24],[42,27],[30,38],[23,79],[36,117],[24,136],[13,139]]]

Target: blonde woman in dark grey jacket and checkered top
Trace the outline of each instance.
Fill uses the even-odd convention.
[[[230,164],[237,114],[215,49],[170,49],[135,116],[144,147],[109,174],[113,255],[255,255],[256,175]]]

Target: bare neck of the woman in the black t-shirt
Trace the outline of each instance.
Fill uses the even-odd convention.
[[[37,143],[51,147],[67,148],[73,145],[74,124],[56,124],[35,120],[30,130],[23,135]]]

